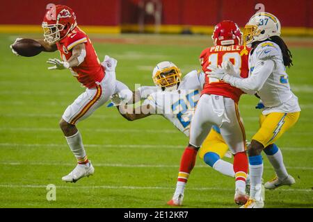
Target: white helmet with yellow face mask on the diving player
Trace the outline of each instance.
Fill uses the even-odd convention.
[[[181,77],[182,72],[174,63],[169,61],[159,62],[152,72],[154,84],[166,91],[177,89]]]

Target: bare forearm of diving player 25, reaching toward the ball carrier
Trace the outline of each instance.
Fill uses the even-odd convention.
[[[128,121],[134,121],[136,119],[143,119],[145,117],[149,117],[152,113],[148,112],[147,114],[143,112],[143,110],[150,110],[150,105],[142,105],[138,108],[130,109],[128,105],[120,105],[117,107],[118,112],[127,119]]]

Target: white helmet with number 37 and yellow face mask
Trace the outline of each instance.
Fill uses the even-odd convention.
[[[243,32],[243,44],[263,41],[273,35],[280,36],[280,21],[268,12],[258,12],[246,24]]]

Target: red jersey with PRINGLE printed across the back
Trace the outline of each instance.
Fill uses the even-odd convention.
[[[245,48],[240,45],[231,46],[212,46],[204,49],[200,55],[202,70],[209,71],[209,65],[222,65],[222,62],[230,60],[234,65],[234,69],[240,71],[241,78],[247,78],[249,74],[248,56],[250,48]],[[231,86],[229,83],[224,83],[216,78],[205,77],[205,83],[201,94],[215,94],[233,99],[238,103],[241,94],[244,92],[241,89]]]

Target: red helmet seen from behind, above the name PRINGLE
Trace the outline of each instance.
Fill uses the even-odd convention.
[[[241,36],[242,33],[236,23],[224,20],[215,26],[212,39],[215,45],[226,46],[241,44]]]

